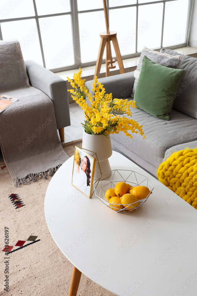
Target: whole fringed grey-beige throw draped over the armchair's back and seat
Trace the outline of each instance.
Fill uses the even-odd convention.
[[[0,41],[0,95],[19,101],[0,113],[0,145],[15,186],[52,175],[69,156],[61,147],[51,99],[29,84],[19,41]]]

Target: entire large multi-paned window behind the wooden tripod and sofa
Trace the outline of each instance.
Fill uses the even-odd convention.
[[[106,1],[123,59],[187,45],[193,0]],[[95,65],[105,31],[102,0],[1,0],[0,39],[17,38],[24,59],[53,72]]]

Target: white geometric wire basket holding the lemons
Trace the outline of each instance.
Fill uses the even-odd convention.
[[[108,200],[105,197],[105,192],[109,188],[115,188],[116,184],[118,184],[119,182],[125,182],[127,184],[131,184],[131,186],[146,186],[149,188],[150,192],[146,196],[146,198],[139,200],[138,206],[135,207],[133,204],[135,204],[136,202],[133,202],[132,204],[123,205],[124,208],[119,209],[118,207],[116,207],[119,204],[113,204],[112,206],[112,204],[109,204]],[[114,210],[117,213],[129,213],[136,210],[144,202],[146,202],[149,195],[154,189],[149,178],[147,178],[144,175],[141,175],[140,173],[134,172],[133,170],[112,170],[110,177],[103,179],[103,176],[101,175],[99,178],[97,178],[96,181],[94,181],[93,186],[96,197],[98,197],[98,199],[101,200],[107,207],[109,207],[111,210]]]

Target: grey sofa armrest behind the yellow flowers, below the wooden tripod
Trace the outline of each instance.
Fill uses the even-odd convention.
[[[128,72],[124,74],[113,75],[109,77],[99,78],[98,82],[104,85],[106,94],[112,93],[113,99],[126,99],[131,98],[133,84],[135,77],[133,72]],[[86,81],[85,85],[89,88],[89,92],[93,94],[92,83],[94,80]]]

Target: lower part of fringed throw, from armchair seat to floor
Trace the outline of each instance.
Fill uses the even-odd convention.
[[[52,175],[69,156],[58,138],[53,103],[33,87],[7,91],[19,101],[0,113],[0,144],[15,186]]]

